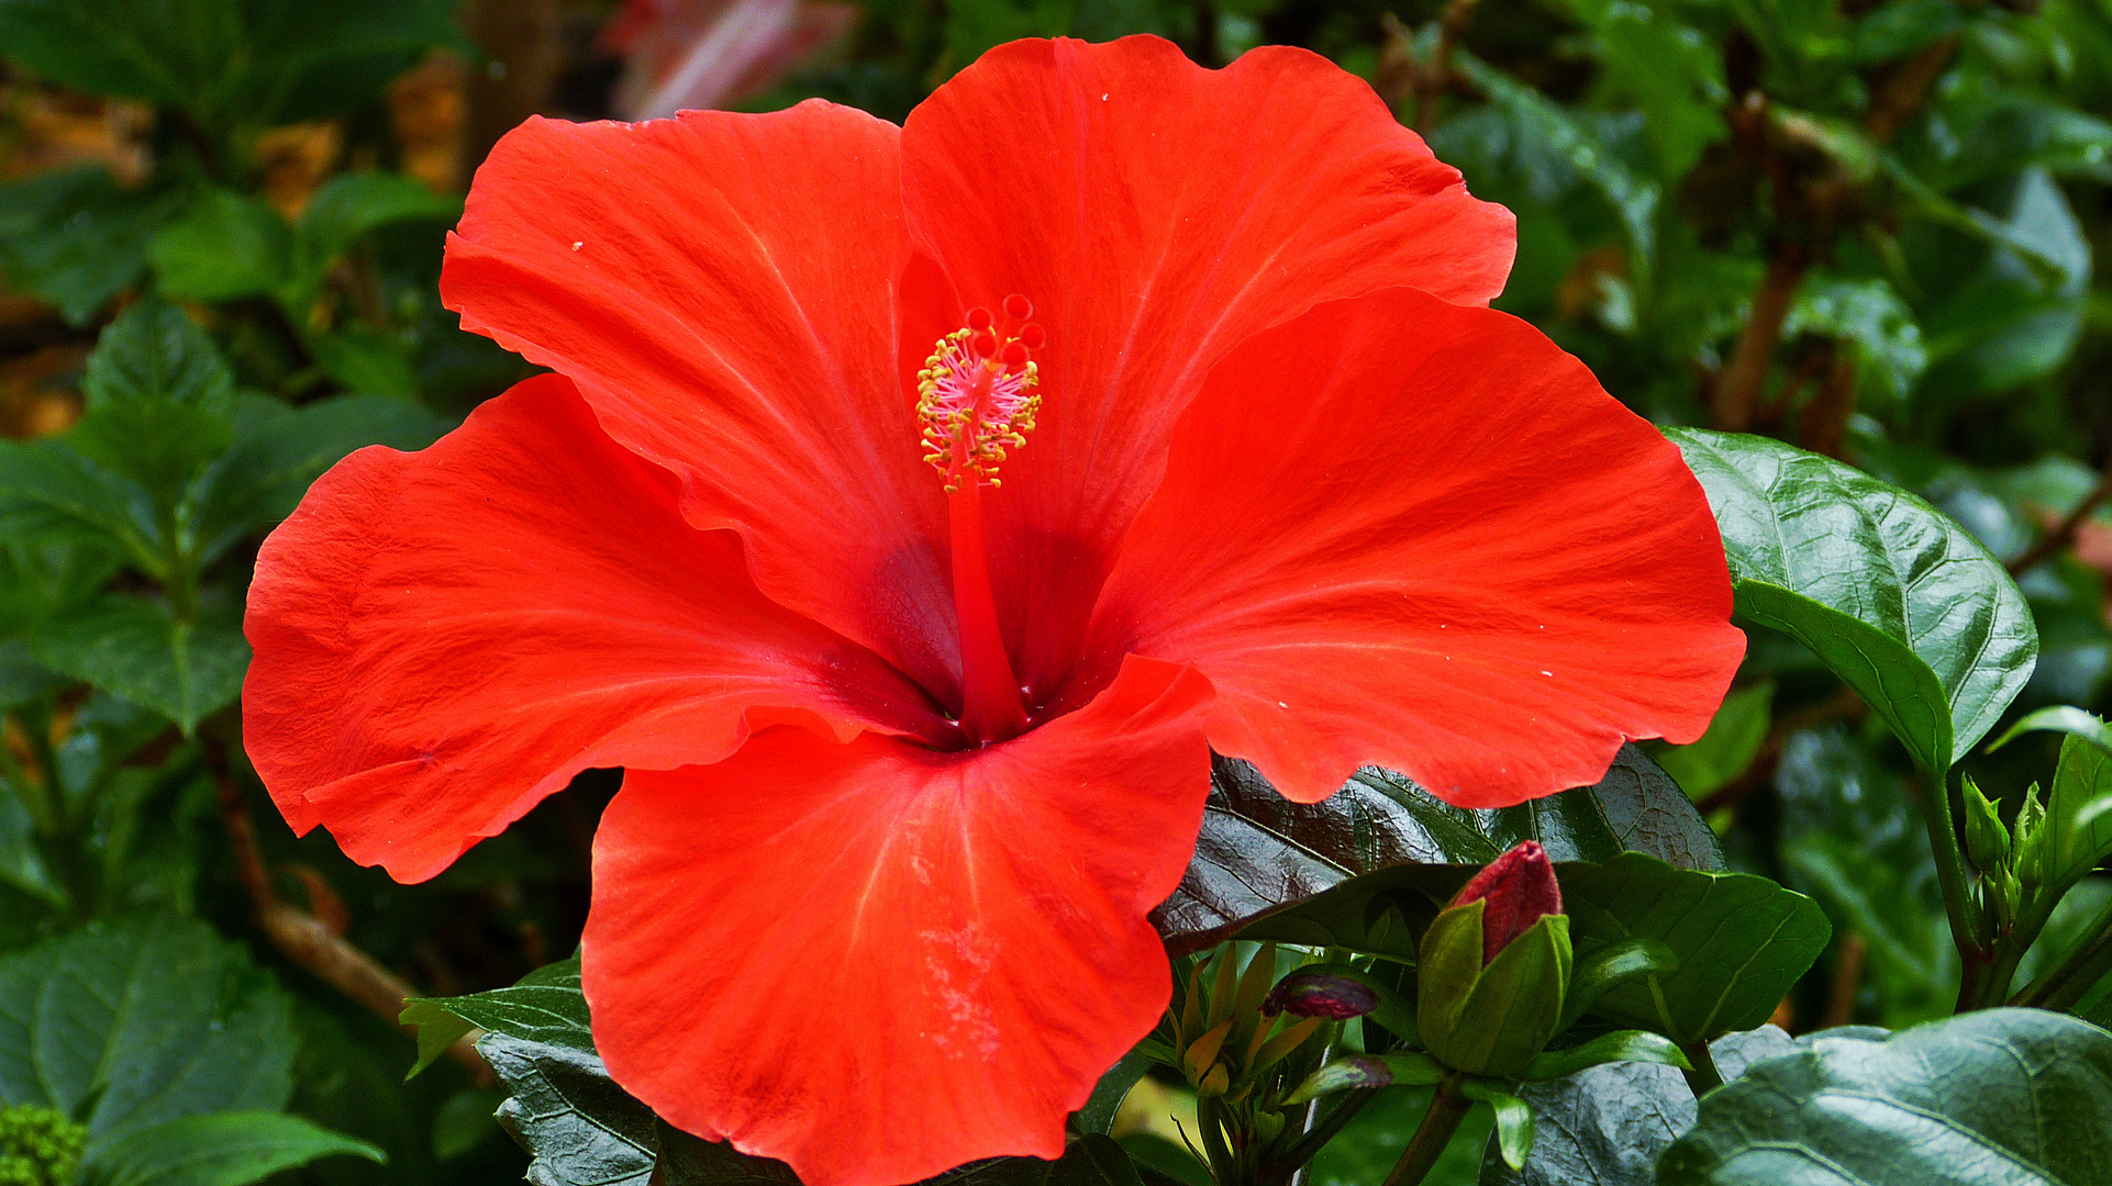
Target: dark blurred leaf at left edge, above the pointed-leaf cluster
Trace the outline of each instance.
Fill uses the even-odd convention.
[[[0,281],[84,325],[146,276],[146,245],[171,207],[169,194],[125,190],[95,165],[0,186]]]

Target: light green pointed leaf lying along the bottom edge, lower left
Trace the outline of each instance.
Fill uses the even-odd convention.
[[[386,1161],[367,1142],[277,1112],[163,1121],[91,1152],[82,1186],[249,1186],[325,1156]]]

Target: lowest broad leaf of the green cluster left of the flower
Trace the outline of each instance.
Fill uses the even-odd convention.
[[[232,608],[186,623],[165,601],[101,597],[36,637],[36,658],[173,720],[186,734],[234,703],[249,642]]]

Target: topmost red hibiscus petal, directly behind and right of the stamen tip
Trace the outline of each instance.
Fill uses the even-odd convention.
[[[902,184],[953,317],[1020,293],[1048,329],[1039,428],[988,500],[1005,633],[1037,688],[1077,654],[1225,350],[1377,287],[1487,302],[1516,243],[1510,211],[1468,196],[1371,87],[1284,46],[1214,72],[1159,38],[999,46],[910,114]],[[906,346],[944,329],[912,314]]]

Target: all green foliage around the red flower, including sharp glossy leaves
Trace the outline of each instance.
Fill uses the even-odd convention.
[[[608,36],[612,15],[0,0],[0,1182],[505,1182],[528,1156],[558,1182],[781,1180],[615,1089],[553,962],[615,774],[397,886],[294,840],[239,743],[262,534],[346,452],[418,447],[526,374],[439,308],[441,234],[503,129],[621,101],[667,30]],[[1157,916],[1174,1015],[1060,1173],[1381,1180],[1466,1083],[1415,1061],[1400,1011],[1426,929],[1538,838],[1576,967],[1643,952],[1546,1053],[1643,1032],[1677,1057],[1459,1095],[1426,1180],[1730,1182],[1768,1137],[1827,1150],[1850,1178],[1810,1180],[1833,1182],[1890,1148],[1766,1129],[1761,1091],[1926,1091],[2015,1165],[2112,1175],[2087,1140],[2004,1144],[2017,1108],[2112,1116],[2112,4],[876,0],[824,25],[724,101],[900,120],[1052,34],[1151,32],[1206,65],[1301,44],[1362,74],[1516,211],[1497,306],[1685,449],[1753,639],[1702,741],[1525,808],[1377,770],[1297,808],[1221,762],[1208,859]],[[1377,1005],[1263,1013],[1301,969]],[[431,998],[416,1055],[406,996]],[[1958,1080],[1909,1083],[1937,1055]],[[2034,1057],[2059,1068],[2019,1078]],[[131,1108],[112,1066],[182,1091]],[[1542,1116],[1523,1169],[1519,1108]]]

